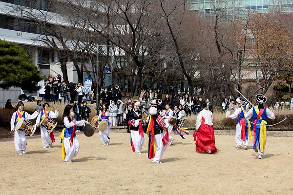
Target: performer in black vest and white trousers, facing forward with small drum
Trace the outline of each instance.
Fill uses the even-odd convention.
[[[144,122],[141,114],[139,114],[140,101],[133,102],[134,108],[131,110],[129,117],[129,131],[130,131],[130,144],[132,151],[136,154],[141,154],[145,136],[142,123]]]

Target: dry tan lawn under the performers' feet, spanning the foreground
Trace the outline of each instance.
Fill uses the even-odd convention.
[[[0,194],[83,195],[292,195],[293,139],[268,137],[262,160],[237,150],[233,136],[216,136],[218,153],[195,153],[192,136],[175,137],[162,164],[133,154],[129,134],[110,133],[102,146],[99,134],[78,133],[81,148],[73,163],[61,160],[59,137],[53,148],[42,148],[39,136],[27,140],[19,156],[13,140],[0,140]],[[57,134],[56,136],[57,137]]]

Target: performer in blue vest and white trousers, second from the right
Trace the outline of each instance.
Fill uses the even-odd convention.
[[[242,148],[243,144],[243,149],[247,150],[251,139],[251,124],[244,115],[248,111],[249,105],[246,105],[247,102],[243,98],[237,98],[236,102],[239,108],[237,108],[229,118],[238,118],[235,133],[236,148]]]

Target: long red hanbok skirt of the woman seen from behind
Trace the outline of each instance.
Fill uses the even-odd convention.
[[[205,118],[202,118],[202,123],[198,131],[194,131],[193,137],[195,141],[195,152],[208,153],[210,151],[212,154],[217,152],[213,126],[205,124]]]

